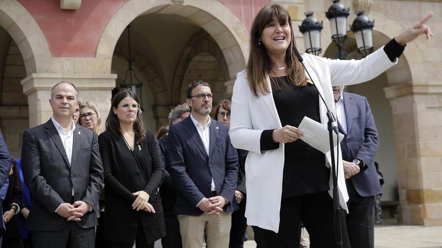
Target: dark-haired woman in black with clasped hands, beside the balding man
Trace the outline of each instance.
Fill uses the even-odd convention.
[[[104,167],[104,239],[110,247],[154,247],[165,235],[158,187],[163,176],[153,133],[146,131],[137,96],[112,99],[106,131],[98,138]]]

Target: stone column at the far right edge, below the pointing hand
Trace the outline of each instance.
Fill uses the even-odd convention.
[[[442,83],[384,91],[393,112],[399,222],[442,225]]]

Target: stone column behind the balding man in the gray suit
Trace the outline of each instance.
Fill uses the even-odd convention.
[[[116,74],[53,74],[33,73],[22,80],[23,93],[28,96],[29,126],[34,127],[49,120],[52,109],[49,105],[52,87],[60,81],[74,84],[80,101],[92,101],[101,115],[101,130],[111,108],[112,90]]]

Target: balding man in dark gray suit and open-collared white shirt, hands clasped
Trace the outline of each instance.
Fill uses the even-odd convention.
[[[94,247],[103,168],[97,137],[75,125],[78,91],[57,83],[53,115],[23,135],[22,170],[31,191],[28,228],[34,247]]]

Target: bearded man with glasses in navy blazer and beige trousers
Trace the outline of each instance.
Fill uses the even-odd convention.
[[[191,83],[191,114],[169,129],[169,172],[178,189],[175,210],[184,248],[202,247],[204,231],[207,247],[228,247],[232,211],[238,209],[238,154],[229,127],[210,119],[212,100],[209,84]]]

